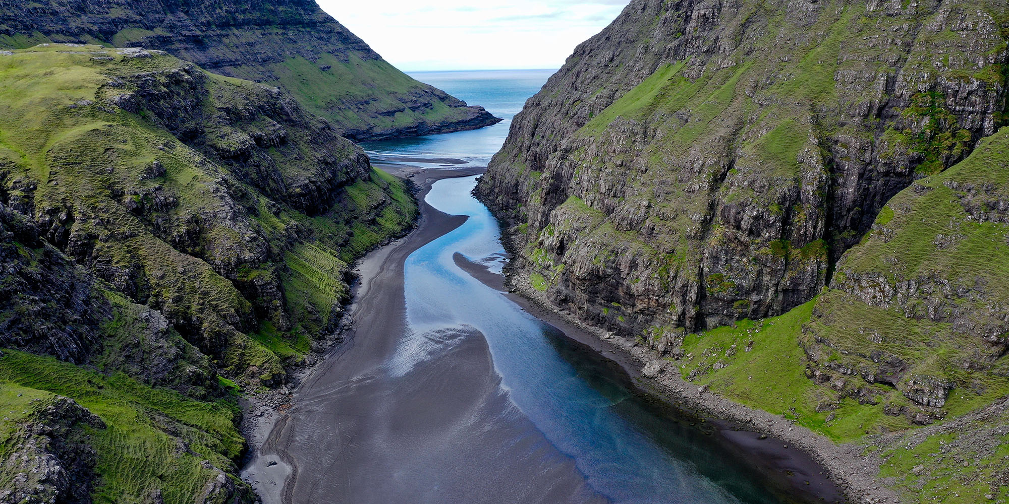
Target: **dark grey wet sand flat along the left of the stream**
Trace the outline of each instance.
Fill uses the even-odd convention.
[[[421,202],[435,180],[481,171],[386,169],[413,175]],[[446,357],[388,373],[408,331],[406,257],[466,219],[426,203],[421,215],[416,231],[360,263],[347,341],[276,415],[243,478],[265,504],[605,502],[512,404],[476,331],[434,335]]]

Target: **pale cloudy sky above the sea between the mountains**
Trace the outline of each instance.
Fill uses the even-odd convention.
[[[317,0],[405,72],[559,69],[630,0]]]

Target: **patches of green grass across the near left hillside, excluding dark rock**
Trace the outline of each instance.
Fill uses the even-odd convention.
[[[147,272],[156,268],[148,277],[154,279],[147,285],[151,295],[141,301],[174,316],[195,312],[204,318],[201,321],[209,319],[209,324],[219,327],[235,317],[253,319],[249,301],[230,280],[207,262],[174,249],[149,222],[128,212],[112,194],[117,186],[138,195],[149,194],[144,191],[155,186],[166,191],[179,199],[179,205],[166,211],[167,220],[162,223],[185,223],[222,211],[214,187],[216,179],[227,176],[224,168],[181,145],[142,115],[102,102],[108,89],[102,87],[110,75],[156,72],[178,60],[167,56],[126,60],[110,51],[98,55],[112,57],[112,61],[96,61],[91,59],[95,54],[61,52],[66,50],[65,46],[37,47],[0,56],[0,172],[5,173],[5,198],[21,202],[30,198],[36,207],[72,202],[71,207],[78,210],[74,229],[100,237],[95,245],[99,256],[117,266],[139,262]],[[70,49],[96,50],[101,49]],[[255,86],[217,77],[211,82],[235,87],[231,92]],[[172,148],[158,148],[166,145]],[[155,159],[165,173],[146,180],[142,174]],[[25,182],[37,190],[26,191]],[[287,362],[309,352],[311,340],[321,336],[334,306],[345,300],[348,263],[409,227],[416,204],[403,181],[379,170],[347,186],[329,212],[315,217],[270,202],[248,186],[242,194],[252,195],[252,202],[258,201],[262,210],[249,218],[250,225],[272,246],[288,248],[279,271],[285,300],[297,324],[291,331],[279,332],[263,322],[257,332],[232,333],[216,364],[232,377],[254,370],[259,378],[274,379],[284,373]],[[271,211],[276,208],[279,211]],[[209,236],[226,242],[236,239],[235,235],[219,227]],[[299,240],[291,245],[293,236]],[[209,460],[231,475],[236,471],[234,461],[244,440],[234,424],[238,415],[234,396],[195,400],[142,385],[117,372],[117,353],[135,338],[136,305],[120,293],[108,295],[118,319],[106,328],[105,352],[95,360],[95,367],[4,350],[0,410],[21,407],[22,398],[10,393],[20,390],[15,387],[69,396],[108,424],[107,429],[90,432],[101,478],[96,502],[140,502],[155,489],[162,491],[164,502],[192,502],[203,485],[216,477],[215,470],[204,468],[201,461]],[[198,354],[192,346],[179,343],[186,352]],[[230,386],[230,381],[222,380],[225,388]],[[12,423],[2,425],[0,432]],[[180,448],[180,442],[189,448]]]

